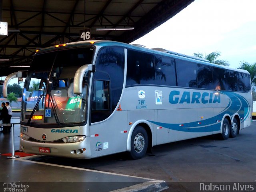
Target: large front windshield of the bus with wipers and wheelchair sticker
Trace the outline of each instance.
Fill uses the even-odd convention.
[[[85,122],[90,72],[84,75],[82,94],[74,94],[73,81],[80,66],[91,64],[93,54],[88,47],[36,55],[24,84],[21,121],[59,126]]]

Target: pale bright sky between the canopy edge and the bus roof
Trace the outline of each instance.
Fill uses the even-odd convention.
[[[195,0],[170,20],[130,43],[182,54],[217,51],[232,68],[256,63],[256,0]]]

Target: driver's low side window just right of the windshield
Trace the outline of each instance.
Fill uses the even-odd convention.
[[[91,122],[102,121],[108,118],[110,113],[109,81],[94,80]]]

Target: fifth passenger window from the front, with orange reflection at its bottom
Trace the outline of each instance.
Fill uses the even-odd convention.
[[[220,68],[213,68],[213,86],[217,90],[225,90],[226,79],[225,70]]]

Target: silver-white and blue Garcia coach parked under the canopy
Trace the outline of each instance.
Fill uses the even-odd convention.
[[[8,76],[8,81],[19,73]],[[38,50],[24,84],[24,152],[96,158],[250,126],[250,74],[168,50],[82,41]]]

